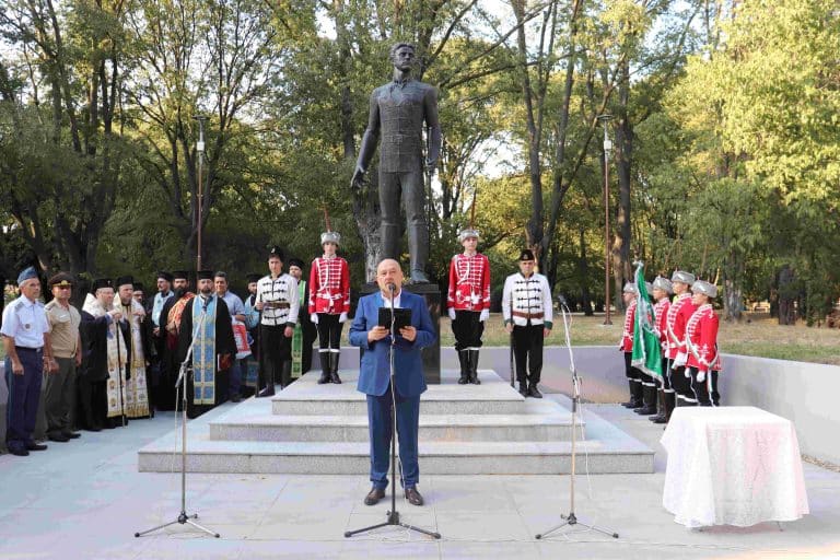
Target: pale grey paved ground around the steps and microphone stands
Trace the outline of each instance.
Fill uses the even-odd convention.
[[[653,475],[578,477],[575,513],[619,539],[580,526],[534,538],[569,511],[568,476],[422,477],[427,505],[398,498],[397,509],[440,541],[394,527],[346,539],[384,521],[389,501],[363,505],[365,477],[302,475],[188,475],[188,512],[222,537],[176,525],[135,538],[180,509],[179,475],[137,471],[137,450],[176,428],[162,413],[0,456],[0,559],[840,558],[840,474],[805,465],[812,514],[798,522],[688,530],[662,508],[661,427],[615,405],[592,410],[656,450]]]

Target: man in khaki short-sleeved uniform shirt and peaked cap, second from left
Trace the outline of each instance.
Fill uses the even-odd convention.
[[[82,316],[70,305],[73,277],[59,272],[47,284],[54,299],[44,306],[50,326],[52,355],[58,371],[48,375],[44,389],[44,412],[47,420],[47,438],[66,442],[79,438],[72,431],[72,413],[75,410],[77,366],[82,362],[82,343],[79,327]]]

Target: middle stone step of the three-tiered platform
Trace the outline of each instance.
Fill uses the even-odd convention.
[[[567,441],[571,415],[420,415],[423,442]],[[368,417],[238,416],[210,423],[211,440],[267,442],[366,442]]]

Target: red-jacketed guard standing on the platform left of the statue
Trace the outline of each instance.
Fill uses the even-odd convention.
[[[336,255],[340,241],[341,235],[330,231],[327,218],[327,231],[320,234],[324,255],[312,261],[310,270],[310,318],[318,327],[319,384],[341,383],[338,361],[341,330],[350,313],[350,267]]]

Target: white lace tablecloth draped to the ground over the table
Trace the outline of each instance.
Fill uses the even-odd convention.
[[[680,407],[662,444],[662,504],[687,527],[794,521],[808,513],[793,423],[755,407]]]

